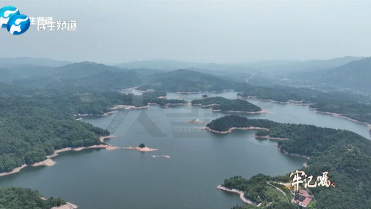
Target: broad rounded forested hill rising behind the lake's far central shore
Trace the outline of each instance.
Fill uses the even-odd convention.
[[[201,72],[179,69],[171,72],[157,73],[148,76],[147,85],[139,90],[155,89],[171,92],[223,91],[226,89],[242,89],[250,86],[246,83],[236,83],[219,76]]]

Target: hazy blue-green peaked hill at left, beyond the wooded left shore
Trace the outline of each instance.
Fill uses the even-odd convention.
[[[12,69],[13,73],[17,70]],[[93,88],[125,89],[143,84],[141,74],[124,71],[118,67],[103,64],[81,62],[59,68],[50,68],[43,75],[32,75],[30,78],[13,79],[12,84],[32,88]]]

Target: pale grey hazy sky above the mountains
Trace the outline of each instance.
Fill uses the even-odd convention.
[[[371,56],[370,1],[1,1],[22,14],[77,20],[77,32],[18,36],[1,57],[118,63],[251,62]]]

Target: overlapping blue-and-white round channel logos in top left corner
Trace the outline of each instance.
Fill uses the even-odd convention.
[[[0,25],[12,35],[20,35],[29,29],[31,22],[29,17],[20,14],[17,7],[5,6],[0,9]]]

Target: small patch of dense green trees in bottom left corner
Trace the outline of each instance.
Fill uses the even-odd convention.
[[[20,187],[0,188],[1,209],[50,209],[64,205],[66,202],[60,198],[50,197],[41,199],[37,190],[24,189]]]

